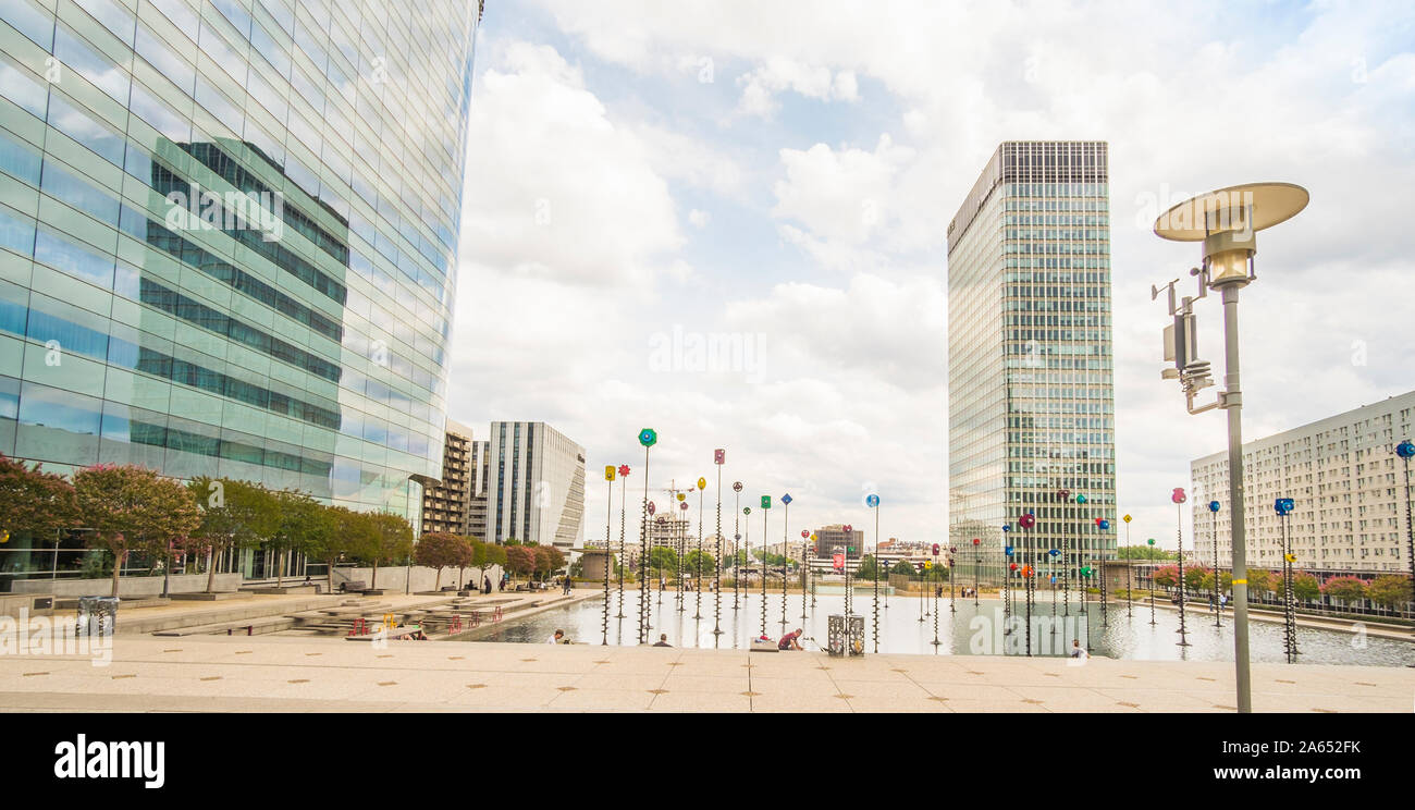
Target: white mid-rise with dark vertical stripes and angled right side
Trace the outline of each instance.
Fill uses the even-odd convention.
[[[584,545],[584,447],[545,422],[492,422],[487,537]]]

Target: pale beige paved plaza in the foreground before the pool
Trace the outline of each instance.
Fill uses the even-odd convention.
[[[1232,664],[120,636],[0,656],[0,711],[1224,712]],[[1411,712],[1415,670],[1254,664],[1261,712]]]

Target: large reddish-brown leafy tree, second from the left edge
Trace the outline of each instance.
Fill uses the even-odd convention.
[[[191,491],[139,466],[98,464],[74,473],[79,517],[93,530],[91,547],[113,554],[113,596],[132,552],[170,554],[201,525]]]

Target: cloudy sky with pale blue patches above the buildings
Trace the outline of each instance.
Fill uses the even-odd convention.
[[[1415,7],[1174,8],[487,3],[449,416],[583,445],[587,538],[604,464],[642,493],[652,426],[655,490],[712,484],[726,447],[724,489],[753,507],[790,491],[792,537],[869,525],[877,491],[883,537],[944,540],[948,221],[999,142],[1099,139],[1119,506],[1136,542],[1173,548],[1169,493],[1225,433],[1159,378],[1150,285],[1199,261],[1150,234],[1170,204],[1262,180],[1312,193],[1262,235],[1244,292],[1248,438],[1415,388]],[[1218,304],[1199,319],[1221,360]]]

